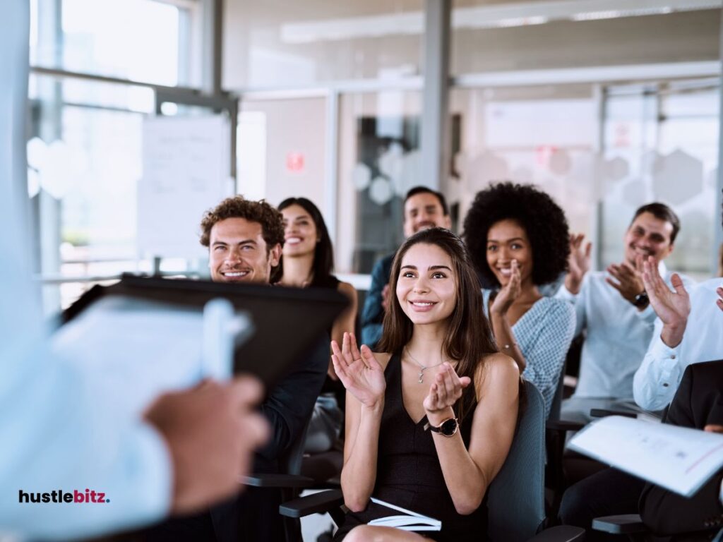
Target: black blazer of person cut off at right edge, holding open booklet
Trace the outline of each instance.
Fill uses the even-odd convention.
[[[665,423],[703,429],[723,425],[723,360],[693,364],[670,403]],[[690,499],[647,483],[640,499],[643,522],[659,535],[716,531],[723,527],[719,491],[723,470]],[[693,539],[686,537],[685,540]]]

